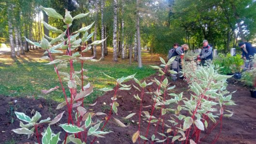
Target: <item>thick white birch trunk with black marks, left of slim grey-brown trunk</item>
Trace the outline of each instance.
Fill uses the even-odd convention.
[[[114,0],[114,28],[113,28],[113,61],[117,61],[117,0]]]

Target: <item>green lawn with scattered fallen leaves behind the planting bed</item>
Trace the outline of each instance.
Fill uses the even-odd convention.
[[[50,98],[55,101],[64,101],[64,96],[61,88],[49,94],[43,94],[41,90],[50,89],[58,85],[57,74],[54,72],[53,65],[43,65],[46,62],[36,61],[21,61],[15,60],[10,65],[7,60],[0,61],[0,95],[3,96],[35,96]],[[81,64],[79,62],[74,64],[75,71],[80,71]],[[122,76],[128,76],[134,73],[139,80],[144,79],[155,73],[155,70],[147,65],[143,68],[137,68],[137,64],[101,64],[95,62],[86,62],[84,69],[85,75],[89,77],[85,81],[93,85],[94,92],[86,97],[85,103],[92,103],[98,96],[103,95],[103,92],[99,91],[103,87],[114,87],[114,82],[107,79],[103,72],[114,78],[120,78]],[[61,69],[61,72],[69,72],[69,69]],[[67,88],[67,82],[63,81],[63,85],[66,89],[66,93],[69,93]]]

